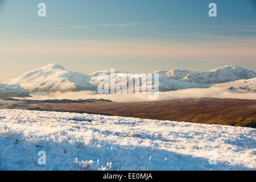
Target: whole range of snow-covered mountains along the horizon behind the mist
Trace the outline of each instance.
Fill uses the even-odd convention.
[[[115,71],[114,76],[110,76],[110,71],[108,70],[96,71],[90,75],[85,75],[68,71],[59,64],[48,64],[42,68],[34,69],[19,77],[11,78],[3,82],[5,85],[2,84],[2,88],[5,88],[5,90],[2,89],[0,92],[8,90],[6,89],[7,85],[9,85],[11,89],[16,88],[19,91],[23,88],[22,91],[24,95],[28,92],[97,91],[98,83],[106,77],[102,76],[100,77],[101,79],[98,80],[98,75],[101,73],[105,73],[107,77],[114,79],[115,84],[126,84],[126,82],[116,79],[115,77],[117,75],[131,76],[133,78],[141,76],[140,74],[129,74],[127,72],[118,71]],[[159,91],[163,92],[188,88],[209,88],[210,86],[224,86],[230,90],[255,90],[256,73],[238,67],[237,65],[226,65],[225,67],[205,72],[172,69],[167,71],[155,71],[153,73],[159,74]]]

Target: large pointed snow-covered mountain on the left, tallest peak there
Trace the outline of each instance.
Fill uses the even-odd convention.
[[[90,84],[90,76],[67,71],[59,64],[48,64],[4,83],[19,84],[30,92],[97,90],[95,85]]]

